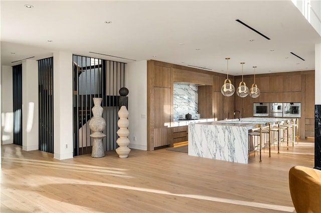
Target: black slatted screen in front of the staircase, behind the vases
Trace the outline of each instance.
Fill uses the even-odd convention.
[[[124,86],[125,65],[122,62],[74,55],[74,155],[91,153],[89,120],[93,97],[102,97],[105,150],[117,148],[118,90]]]

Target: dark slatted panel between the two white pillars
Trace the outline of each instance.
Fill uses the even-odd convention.
[[[38,60],[39,150],[54,153],[53,57]]]

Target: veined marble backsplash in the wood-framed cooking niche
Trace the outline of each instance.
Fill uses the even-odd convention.
[[[198,86],[174,83],[174,120],[185,119],[185,114],[200,118],[198,114]]]

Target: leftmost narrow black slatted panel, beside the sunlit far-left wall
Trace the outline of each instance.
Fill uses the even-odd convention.
[[[22,64],[13,66],[14,144],[22,145]]]

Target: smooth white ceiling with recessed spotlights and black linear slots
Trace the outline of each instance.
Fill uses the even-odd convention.
[[[256,73],[311,70],[314,44],[321,42],[291,0],[0,2],[2,65],[68,51],[127,63],[154,59],[221,73],[227,72],[225,57],[230,57],[233,75],[241,74],[240,62],[245,62],[244,74],[253,74],[253,65]]]

